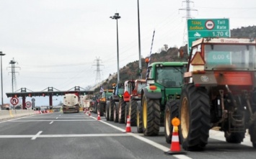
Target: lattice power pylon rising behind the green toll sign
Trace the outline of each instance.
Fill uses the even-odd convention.
[[[182,1],[182,4],[183,3],[186,3],[186,7],[182,8],[182,9],[179,9],[179,11],[186,11],[186,16],[182,17],[182,18],[186,19],[184,32],[183,32],[183,45],[185,46],[187,44],[187,19],[193,19],[193,17],[191,16],[191,11],[198,11],[198,10],[197,9],[192,9],[190,7],[190,3],[194,4],[193,1],[186,0],[186,1]]]

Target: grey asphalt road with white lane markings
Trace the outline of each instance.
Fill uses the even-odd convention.
[[[256,158],[246,137],[242,144],[229,144],[221,132],[211,131],[206,150],[186,155],[165,155],[170,149],[164,129],[159,136],[144,137],[125,124],[97,120],[83,114],[37,114],[0,122],[0,159],[69,158]]]

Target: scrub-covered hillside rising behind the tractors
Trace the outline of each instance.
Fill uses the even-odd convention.
[[[256,26],[252,27],[241,27],[237,29],[231,29],[231,37],[256,37]],[[180,50],[184,50],[184,57],[180,58]],[[162,50],[160,53],[152,53],[151,54],[151,63],[156,61],[185,61],[187,60],[187,45],[177,48],[177,47],[170,47],[167,50]],[[141,67],[142,67],[142,78],[146,78],[146,63],[145,58],[141,59]],[[128,63],[123,68],[120,69],[120,83],[128,79],[137,79],[140,77],[138,73],[138,60]],[[110,77],[107,78],[102,83],[98,84],[94,87],[94,92],[100,92],[100,86],[103,88],[112,88],[112,83],[116,83],[118,81],[117,73],[114,75],[110,74]]]

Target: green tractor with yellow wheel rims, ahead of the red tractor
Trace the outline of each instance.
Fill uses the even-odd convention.
[[[165,137],[170,140],[170,119],[178,116],[177,103],[183,85],[187,62],[156,62],[148,67],[146,87],[141,91],[141,104],[137,108],[137,131],[146,136],[159,134],[166,127]],[[173,107],[175,106],[175,107]],[[170,109],[173,114],[170,114]]]

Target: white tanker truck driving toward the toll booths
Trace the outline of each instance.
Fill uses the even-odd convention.
[[[63,114],[65,113],[79,113],[79,98],[76,94],[65,94],[63,97]]]

